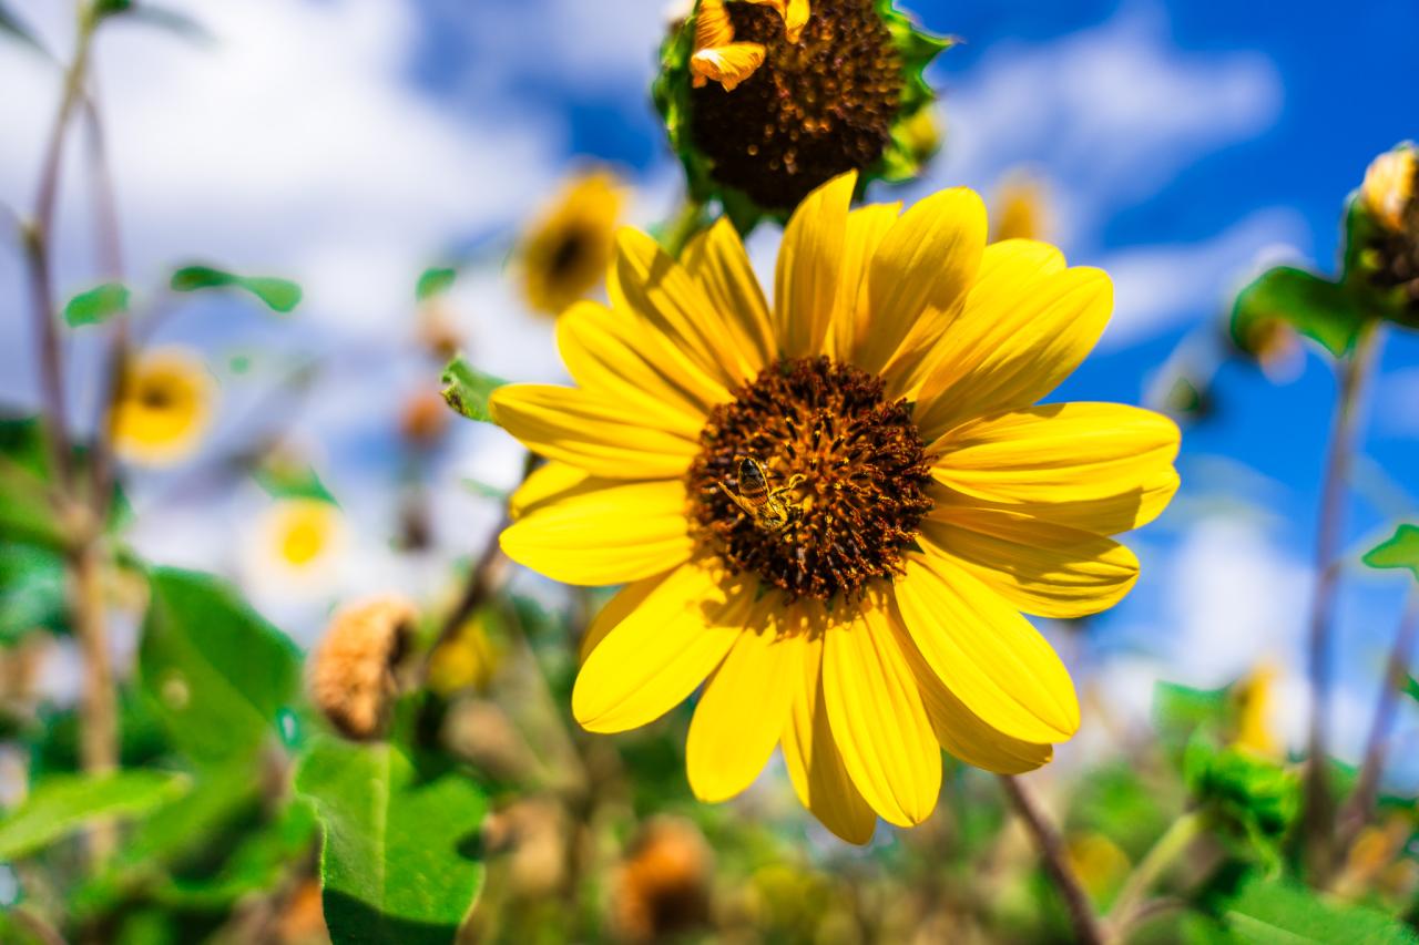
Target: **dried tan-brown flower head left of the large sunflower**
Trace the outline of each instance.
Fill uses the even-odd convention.
[[[331,620],[311,660],[311,697],[335,728],[355,739],[383,732],[397,692],[414,606],[394,596],[345,607]]]

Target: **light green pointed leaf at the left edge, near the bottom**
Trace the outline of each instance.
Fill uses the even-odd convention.
[[[41,850],[98,817],[139,817],[180,797],[187,785],[187,778],[159,770],[45,778],[0,820],[0,861]]]

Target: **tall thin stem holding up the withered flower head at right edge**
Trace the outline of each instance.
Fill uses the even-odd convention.
[[[1321,484],[1320,522],[1315,535],[1315,589],[1311,596],[1308,661],[1311,678],[1311,719],[1301,843],[1310,863],[1324,873],[1330,863],[1334,822],[1327,783],[1328,739],[1325,715],[1330,704],[1330,637],[1340,587],[1337,549],[1344,534],[1345,480],[1359,438],[1365,389],[1379,362],[1381,331],[1378,322],[1359,329],[1355,352],[1341,362],[1340,394],[1331,430],[1325,478]]]

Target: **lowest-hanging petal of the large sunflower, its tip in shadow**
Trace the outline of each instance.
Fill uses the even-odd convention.
[[[877,814],[853,783],[823,705],[823,637],[805,634],[803,661],[788,685],[793,708],[783,729],[783,761],[799,800],[849,843],[873,839]]]

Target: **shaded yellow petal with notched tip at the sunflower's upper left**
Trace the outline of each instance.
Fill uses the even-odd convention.
[[[627,308],[663,333],[668,346],[683,352],[711,380],[729,390],[756,373],[729,333],[725,319],[705,298],[684,267],[666,255],[660,244],[639,230],[624,228],[617,238],[616,308]]]

